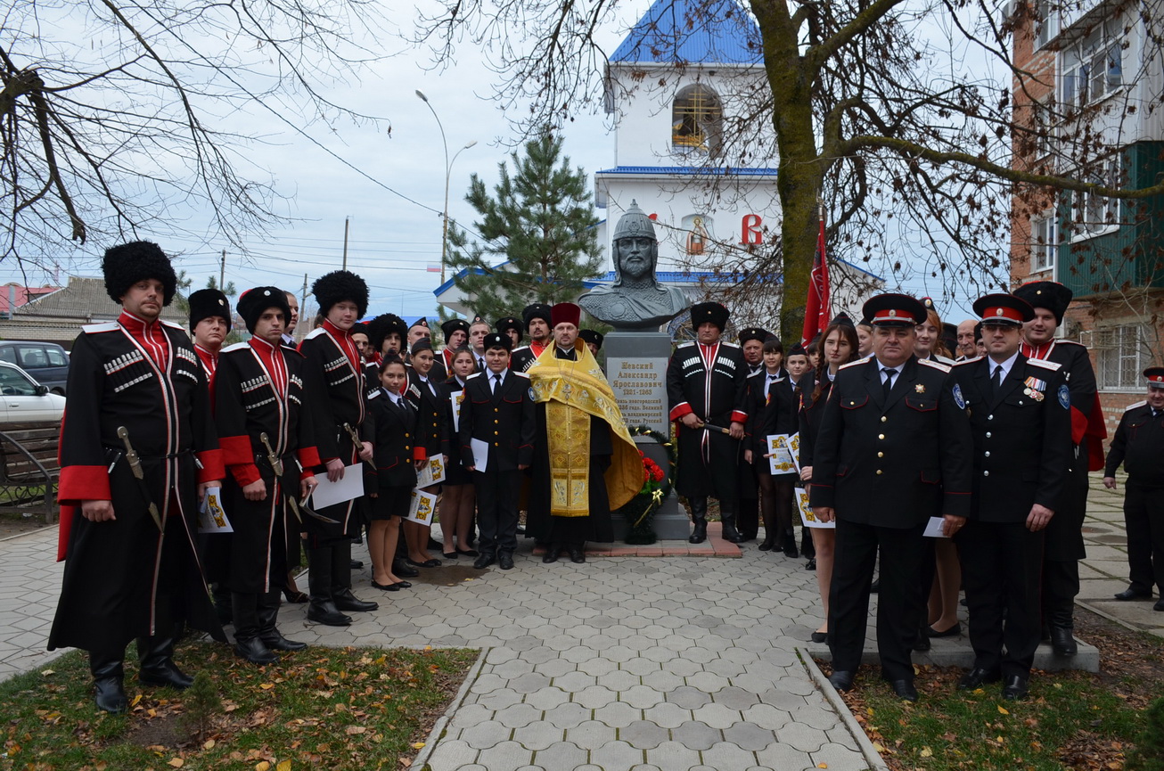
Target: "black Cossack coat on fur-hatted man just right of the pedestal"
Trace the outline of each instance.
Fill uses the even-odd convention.
[[[694,412],[702,423],[723,429],[732,422],[746,423],[747,362],[739,346],[684,342],[675,348],[667,362],[667,402],[675,422]],[[734,504],[740,443],[717,431],[682,424],[676,430],[675,490],[687,497],[710,495]]]

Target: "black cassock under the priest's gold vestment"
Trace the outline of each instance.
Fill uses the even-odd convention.
[[[576,351],[554,346],[554,356],[577,361]],[[610,543],[615,526],[610,518],[610,496],[603,474],[610,468],[615,447],[610,426],[599,417],[590,416],[590,515],[585,517],[553,517],[549,515],[549,445],[546,443],[546,404],[534,405],[537,434],[533,445],[533,466],[530,468],[530,509],[526,511],[525,531],[539,542],[573,544],[583,540]]]

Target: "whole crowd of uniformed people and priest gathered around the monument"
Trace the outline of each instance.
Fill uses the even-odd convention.
[[[217,290],[189,298],[192,340],[159,319],[177,277],[156,245],[113,247],[102,270],[122,313],[72,349],[49,649],[88,651],[104,710],[127,708],[133,639],[142,684],[185,688],[173,662],[185,627],[227,642],[233,625],[235,653],[265,665],[305,648],[278,629],[281,592],[320,624],[377,609],[353,592],[354,539],[367,539],[370,590],[406,590],[462,557],[511,570],[523,510],[544,563],[584,563],[585,543],[612,540],[611,510],[643,486],[595,358],[602,335],[580,330],[575,304],[448,320],[438,351],[426,319],[360,324],[368,287],[340,270],[312,287],[319,317],[298,346],[298,303],[276,287],[239,297],[250,338],[225,345],[233,314]],[[842,314],[787,351],[759,327],[729,342],[726,307],[691,307],[696,339],[676,346],[666,376],[690,542],[708,538],[715,498],[726,540],[754,540],[762,524],[761,551],[808,558],[823,618],[812,639],[831,649],[835,687],[853,686],[873,590],[881,673],[904,699],[917,698],[910,651],[961,634],[959,590],[975,655],[959,687],[1002,680],[1006,698],[1024,698],[1043,636],[1074,655],[1087,472],[1103,467],[1103,433],[1086,349],[1055,337],[1070,299],[1052,282],[980,298],[957,360],[932,304],[904,295],[874,297],[860,324]],[[1164,588],[1164,368],[1145,375],[1149,399],[1124,415],[1103,480],[1114,487],[1127,465],[1121,600]],[[769,467],[765,438],[781,433],[800,438],[799,472]],[[433,459],[443,481],[418,488]],[[361,495],[313,504],[350,474]],[[797,487],[835,528],[802,524],[797,538]],[[208,491],[229,536],[199,532]],[[410,518],[418,493],[438,491],[439,542]]]

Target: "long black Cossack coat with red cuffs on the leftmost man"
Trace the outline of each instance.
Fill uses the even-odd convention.
[[[118,323],[86,326],[72,347],[61,431],[68,560],[49,650],[120,651],[135,637],[172,634],[183,620],[226,641],[194,545],[198,482],[223,474],[206,375],[186,332],[155,324],[169,342],[163,368]],[[119,426],[141,457],[142,482],[126,460]],[[85,519],[85,500],[112,501],[116,519]]]

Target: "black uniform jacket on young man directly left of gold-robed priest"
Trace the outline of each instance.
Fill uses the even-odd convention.
[[[505,373],[501,388],[492,392],[494,373],[485,370],[464,381],[461,402],[461,464],[476,466],[470,439],[489,444],[489,465],[478,472],[510,472],[533,462],[534,409],[530,394],[530,376]]]

